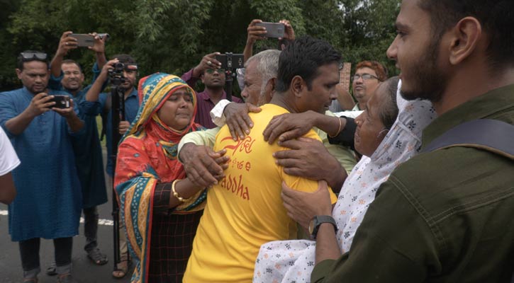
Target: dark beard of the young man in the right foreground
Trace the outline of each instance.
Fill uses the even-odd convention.
[[[423,57],[418,59],[415,64],[410,64],[412,69],[412,77],[410,80],[410,90],[400,93],[406,100],[423,99],[437,103],[442,98],[448,83],[448,76],[445,70],[437,68],[437,59],[439,59],[439,49],[437,44],[438,38],[434,38],[428,46]],[[403,80],[405,81],[405,80]]]

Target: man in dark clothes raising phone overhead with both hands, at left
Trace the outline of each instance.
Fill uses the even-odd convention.
[[[50,81],[48,87],[51,89],[66,91],[73,96],[75,103],[80,105],[85,99],[87,91],[91,85],[82,88],[84,73],[77,62],[64,59],[69,50],[74,50],[79,45],[77,40],[69,36],[71,31],[62,34],[59,47],[50,63]],[[93,66],[93,81],[100,73],[100,69],[106,63],[104,53],[106,37],[100,37],[96,33],[91,33],[94,37],[94,45],[89,47],[96,54],[96,64]],[[100,252],[97,247],[96,236],[98,231],[99,214],[96,206],[107,202],[107,192],[104,177],[104,164],[102,161],[101,145],[96,127],[96,115],[89,115],[79,111],[79,117],[85,123],[85,135],[83,139],[74,142],[75,163],[82,187],[82,207],[84,212],[84,236],[86,236],[86,246],[84,250],[88,257],[97,265],[107,263],[107,256]],[[55,266],[50,266],[47,270],[48,275],[55,275]]]

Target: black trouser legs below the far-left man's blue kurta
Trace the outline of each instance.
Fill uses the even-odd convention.
[[[20,241],[19,246],[23,271],[39,269],[40,238],[31,238],[26,241]],[[55,264],[57,267],[72,264],[72,246],[72,237],[54,239]]]

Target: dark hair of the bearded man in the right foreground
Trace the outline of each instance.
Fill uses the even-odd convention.
[[[514,65],[513,0],[420,0],[419,6],[430,14],[437,42],[462,18],[472,16],[488,35],[491,71]]]

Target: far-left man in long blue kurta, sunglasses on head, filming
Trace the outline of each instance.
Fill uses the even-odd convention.
[[[72,282],[82,208],[72,139],[82,138],[84,122],[67,93],[47,89],[47,54],[21,52],[16,74],[23,88],[0,93],[0,125],[21,161],[13,171],[18,195],[9,205],[9,233],[19,242],[23,282],[38,281],[40,238],[54,241],[57,282]],[[57,108],[57,101],[69,107]]]

